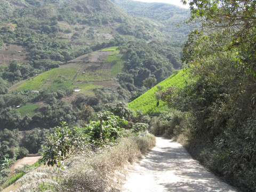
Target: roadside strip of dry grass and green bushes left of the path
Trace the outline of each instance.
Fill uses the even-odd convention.
[[[70,126],[63,122],[62,126],[55,127],[42,148],[42,161],[53,167],[30,170],[21,178],[18,174],[13,187],[19,188],[17,191],[117,190],[116,180],[123,180],[115,175],[117,171],[122,172],[127,162],[137,161],[141,154],[155,146],[154,135],[148,134],[143,126],[146,124],[133,124],[133,121],[142,120],[141,117],[133,117],[131,110],[120,109],[122,106],[111,105],[109,108],[115,114],[130,117],[130,125],[124,118],[105,111],[98,113],[99,121],[85,126]],[[132,126],[131,131],[124,129],[127,126]]]

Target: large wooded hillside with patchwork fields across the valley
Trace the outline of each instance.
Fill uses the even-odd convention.
[[[179,18],[186,12],[168,9]],[[183,67],[188,28],[131,17],[110,1],[1,1],[0,13],[1,175],[37,153],[51,127],[98,121],[95,113],[123,109],[119,101]],[[148,127],[137,123],[134,130]]]

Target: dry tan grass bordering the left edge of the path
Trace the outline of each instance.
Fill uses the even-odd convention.
[[[52,168],[36,169],[17,183],[23,183],[30,175],[42,175],[41,184],[28,179],[33,182],[26,182],[26,186],[37,187],[36,191],[42,191],[42,187],[51,191],[119,191],[125,179],[125,166],[138,162],[155,142],[154,135],[147,133],[122,138],[113,146],[71,158],[65,163],[66,171],[60,170],[57,175]],[[20,191],[26,191],[26,186],[23,185]]]

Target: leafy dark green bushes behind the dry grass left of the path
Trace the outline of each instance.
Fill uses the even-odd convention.
[[[90,122],[84,127],[69,127],[66,122],[62,122],[61,126],[54,127],[55,132],[48,135],[46,145],[43,146],[42,161],[47,165],[60,167],[63,160],[70,155],[89,149],[92,144],[106,145],[122,136],[122,124],[127,124],[125,119],[109,111],[99,113],[99,116],[102,118],[102,135],[100,121]]]

